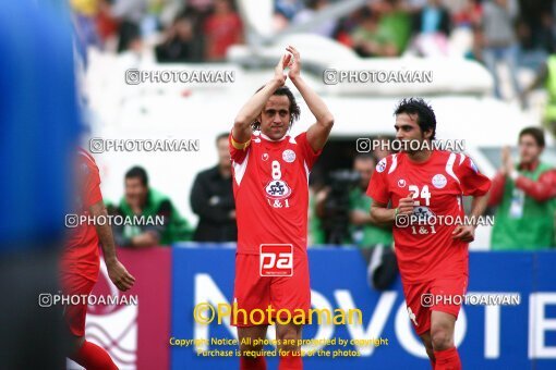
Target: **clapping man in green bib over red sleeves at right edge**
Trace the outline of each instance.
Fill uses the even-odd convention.
[[[556,169],[541,161],[544,133],[527,127],[519,134],[519,157],[503,150],[501,166],[493,180],[488,206],[497,206],[493,250],[539,250],[554,247]]]

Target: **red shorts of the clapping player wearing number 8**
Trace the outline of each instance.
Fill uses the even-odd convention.
[[[280,312],[281,320],[291,316],[293,322],[295,316],[298,318],[301,316],[300,309],[307,318],[311,309],[311,286],[306,252],[293,255],[291,276],[261,276],[259,258],[259,255],[235,254],[233,303],[238,312],[232,310],[231,324],[234,326],[270,324],[276,322],[280,309],[287,310]]]

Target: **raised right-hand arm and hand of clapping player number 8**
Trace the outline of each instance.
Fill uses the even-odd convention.
[[[328,135],[330,135],[330,130],[333,130],[334,125],[334,116],[326,107],[324,100],[321,99],[303,78],[301,78],[301,59],[299,51],[292,46],[286,49],[293,54],[293,60],[288,64],[290,67],[288,75],[300,91],[303,100],[305,100],[311,113],[313,113],[316,119],[316,123],[311,125],[307,130],[307,141],[314,151],[318,151],[323,149],[328,139]]]

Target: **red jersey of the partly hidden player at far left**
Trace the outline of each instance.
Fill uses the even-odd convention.
[[[90,217],[89,207],[102,200],[100,176],[93,157],[83,149],[77,150],[77,183],[75,213],[77,217]],[[88,280],[97,281],[99,268],[98,235],[93,223],[77,224],[70,229],[68,240],[62,254],[62,273],[78,274]]]

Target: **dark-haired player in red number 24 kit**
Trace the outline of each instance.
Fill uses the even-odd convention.
[[[433,369],[461,369],[454,345],[460,309],[456,304],[461,300],[451,298],[467,291],[468,246],[476,224],[407,222],[414,221],[410,215],[464,219],[463,196],[473,197],[468,218],[478,219],[486,208],[491,182],[466,155],[431,150],[436,118],[422,99],[402,100],[395,115],[396,138],[420,146],[406,145],[403,151],[378,162],[367,189],[374,200],[371,218],[378,224],[395,222],[395,250],[409,317]]]

